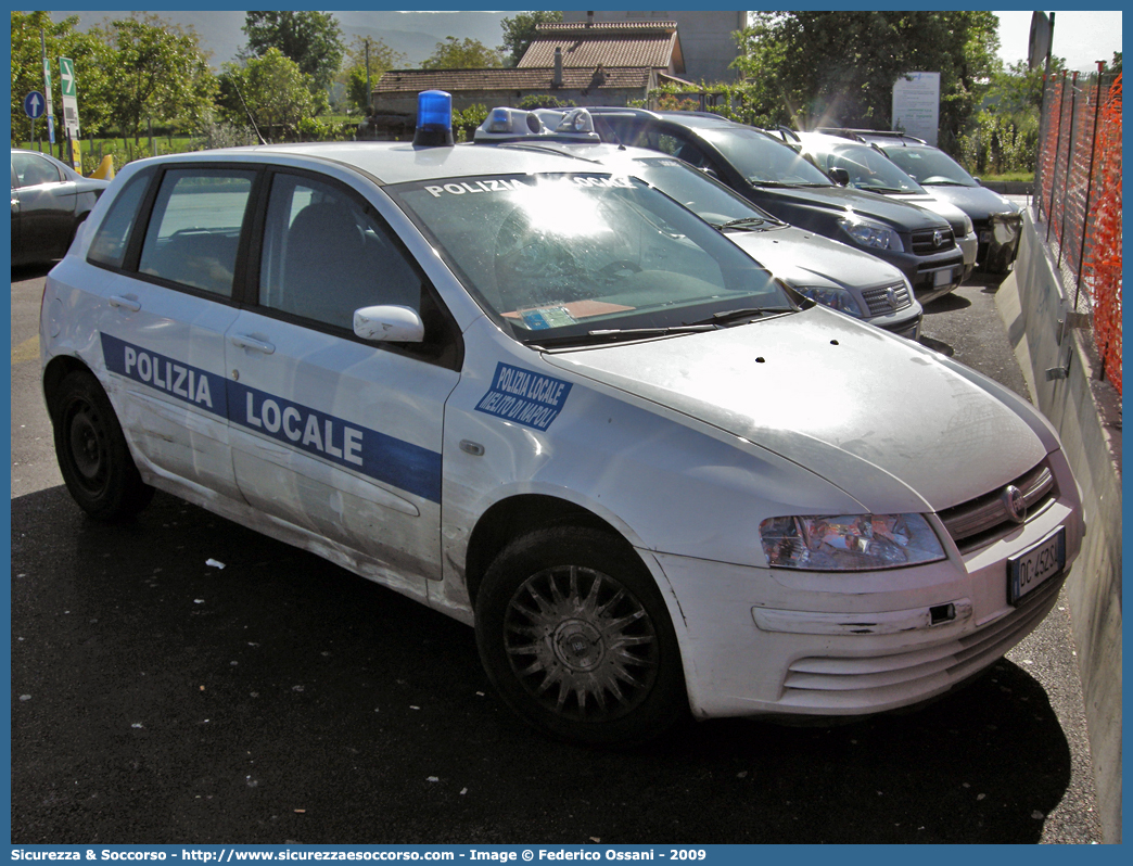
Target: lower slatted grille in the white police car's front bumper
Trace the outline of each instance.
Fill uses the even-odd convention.
[[[791,663],[783,704],[816,712],[909,703],[944,691],[987,668],[1047,615],[1064,578],[1053,577],[1005,617],[931,646],[874,656],[815,656]]]

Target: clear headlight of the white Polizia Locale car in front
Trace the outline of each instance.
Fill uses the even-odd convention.
[[[759,538],[773,568],[871,571],[945,555],[921,515],[769,517],[759,524]]]

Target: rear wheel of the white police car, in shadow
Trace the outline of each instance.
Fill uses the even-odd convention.
[[[136,515],[153,499],[142,481],[114,409],[86,371],[63,376],[51,400],[56,459],[71,498],[96,520]]]

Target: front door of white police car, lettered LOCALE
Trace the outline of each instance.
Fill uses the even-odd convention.
[[[247,307],[224,346],[236,477],[255,508],[424,595],[440,579],[444,402],[459,333],[375,207],[299,171],[270,179]],[[418,311],[424,345],[353,336],[353,312]]]

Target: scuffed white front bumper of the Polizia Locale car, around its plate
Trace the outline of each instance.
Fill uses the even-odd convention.
[[[1012,605],[1007,558],[1058,526],[1065,569]],[[919,704],[1002,657],[1055,604],[1081,536],[1079,507],[1059,499],[1006,537],[915,568],[820,574],[653,557],[673,589],[698,718],[853,716]]]

